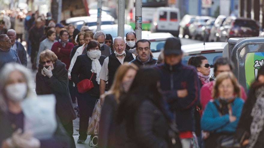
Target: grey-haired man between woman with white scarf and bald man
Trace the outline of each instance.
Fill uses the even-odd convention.
[[[94,38],[96,41],[98,41],[100,43],[101,54],[106,56],[106,57],[109,56],[110,55],[110,48],[106,44],[104,44],[105,43],[104,41],[106,38],[105,33],[103,31],[96,31]]]

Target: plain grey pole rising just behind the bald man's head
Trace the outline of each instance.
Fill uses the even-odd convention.
[[[117,27],[117,36],[124,38],[125,34],[125,1],[118,0],[118,27]]]

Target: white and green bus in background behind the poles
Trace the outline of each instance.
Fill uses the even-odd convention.
[[[150,30],[153,14],[157,7],[166,7],[168,0],[142,0],[142,30]],[[128,4],[127,22],[135,29],[135,0],[130,0]]]

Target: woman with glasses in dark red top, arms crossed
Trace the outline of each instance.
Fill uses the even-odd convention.
[[[70,51],[73,48],[73,43],[69,42],[69,33],[67,30],[60,31],[60,39],[52,45],[51,51],[53,51],[61,62],[66,64],[66,69],[70,66]]]

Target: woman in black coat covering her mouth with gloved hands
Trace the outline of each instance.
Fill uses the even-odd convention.
[[[76,113],[70,98],[66,65],[58,60],[54,52],[45,50],[40,54],[40,64],[36,75],[36,93],[54,94],[56,97],[56,113],[67,133],[71,136],[71,147],[75,147],[73,139],[73,122]]]

